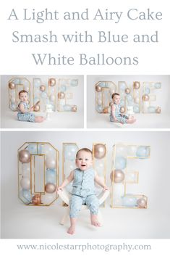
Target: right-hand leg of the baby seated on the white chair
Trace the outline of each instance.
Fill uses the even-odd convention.
[[[101,223],[98,222],[98,207],[99,201],[95,195],[88,196],[86,198],[86,205],[90,209],[91,224],[96,227],[100,227]]]

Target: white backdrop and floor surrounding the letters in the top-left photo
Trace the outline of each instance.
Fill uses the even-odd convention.
[[[43,123],[19,122],[17,112],[9,110],[8,82],[14,77],[25,77],[30,80],[33,88],[33,78],[41,78],[47,83],[48,78],[78,79],[78,86],[74,88],[72,99],[69,104],[77,105],[77,112],[54,112],[51,113],[51,120]],[[1,76],[1,128],[83,128],[84,123],[84,78],[82,75],[2,75]],[[46,113],[35,112],[35,115]]]

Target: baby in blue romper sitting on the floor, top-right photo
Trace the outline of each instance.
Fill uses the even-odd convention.
[[[116,123],[135,123],[134,117],[128,117],[127,115],[122,115],[120,112],[120,95],[119,94],[112,94],[111,98],[113,101],[110,103],[111,106],[111,114],[110,114],[110,121]]]

